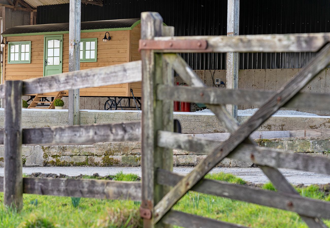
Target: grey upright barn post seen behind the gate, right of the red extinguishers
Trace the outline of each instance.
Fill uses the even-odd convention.
[[[240,0],[227,0],[227,36],[237,36],[240,28]],[[227,52],[226,89],[238,89],[238,52]],[[226,109],[237,119],[237,105],[228,103]]]

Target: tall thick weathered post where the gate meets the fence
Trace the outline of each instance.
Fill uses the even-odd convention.
[[[163,35],[163,19],[158,13],[141,14],[141,39],[151,40]],[[172,35],[173,29],[165,29]],[[160,148],[156,143],[158,130],[173,131],[173,101],[156,98],[158,84],[173,85],[173,70],[164,63],[162,54],[141,50],[142,57],[142,203],[141,216],[144,227],[170,227],[154,224],[153,207],[169,190],[158,185],[156,170],[173,168],[172,150]],[[151,215],[151,216],[148,216]]]

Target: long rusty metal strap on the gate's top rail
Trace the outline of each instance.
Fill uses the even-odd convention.
[[[176,40],[154,41],[140,40],[140,50],[205,50],[208,46],[206,40]]]

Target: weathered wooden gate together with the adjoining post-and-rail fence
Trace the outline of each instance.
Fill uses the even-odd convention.
[[[282,106],[324,109],[327,94],[299,91],[330,63],[330,34],[250,35],[236,37],[174,37],[174,28],[163,25],[158,13],[141,15],[140,50],[142,62],[130,62],[98,69],[74,71],[26,81],[6,81],[0,86],[5,99],[5,127],[0,143],[5,148],[5,175],[0,180],[4,204],[22,207],[22,194],[132,199],[141,202],[144,227],[239,227],[209,218],[172,210],[188,190],[242,200],[296,212],[310,227],[326,227],[330,202],[300,196],[277,168],[292,168],[330,174],[330,159],[289,154],[283,150],[258,147],[249,135]],[[308,52],[317,57],[272,96],[266,92],[214,90],[205,88],[178,52]],[[174,87],[174,70],[188,87]],[[143,80],[142,80],[143,79]],[[103,85],[143,83],[142,128],[139,122],[22,129],[22,94],[41,94]],[[249,95],[251,95],[249,97]],[[267,95],[267,96],[265,96]],[[217,141],[197,139],[173,132],[173,100],[207,103],[230,137]],[[261,105],[245,123],[238,122],[223,103]],[[142,131],[141,131],[142,129]],[[110,180],[68,180],[22,178],[24,144],[91,144],[110,141],[142,141],[142,187],[138,182]],[[182,149],[205,157],[194,170],[182,176],[172,172],[173,151]],[[203,177],[223,158],[258,164],[277,192],[233,185]]]

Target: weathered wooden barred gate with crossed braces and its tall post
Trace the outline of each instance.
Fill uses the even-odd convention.
[[[271,117],[279,108],[326,109],[330,102],[328,94],[304,94],[299,91],[330,63],[330,33],[247,35],[214,37],[173,37],[162,33],[162,18],[154,12],[141,14],[143,112],[142,112],[142,161],[153,164],[151,169],[143,167],[142,217],[144,227],[180,225],[184,227],[238,227],[212,219],[193,216],[172,210],[188,190],[214,194],[265,206],[296,212],[310,227],[326,227],[321,218],[329,218],[330,204],[303,198],[277,169],[295,168],[330,174],[330,159],[299,154],[288,154],[282,150],[260,148],[249,135]],[[304,52],[319,51],[316,58],[275,92],[247,92],[235,90],[214,90],[205,88],[204,83],[185,61],[174,52]],[[164,60],[167,65],[164,65]],[[165,68],[166,66],[166,68]],[[168,67],[172,67],[189,87],[174,87],[168,84]],[[167,69],[167,70],[165,70]],[[160,78],[163,78],[161,80]],[[147,90],[146,90],[147,88]],[[147,101],[150,98],[150,101]],[[164,126],[155,127],[154,120],[170,120],[164,109],[157,111],[157,104],[168,100],[203,102],[219,121],[231,132],[228,139],[216,142],[203,138],[173,133]],[[321,101],[320,101],[321,100]],[[153,101],[153,102],[152,102]],[[323,102],[324,101],[324,102]],[[241,126],[222,106],[224,103],[260,105],[259,110]],[[152,111],[150,111],[152,110]],[[168,109],[165,109],[168,110]],[[170,109],[172,112],[172,109]],[[156,139],[156,145],[154,144]],[[182,149],[206,154],[197,166],[186,176],[171,172],[171,167],[162,167],[166,156]],[[203,152],[202,152],[203,151]],[[203,177],[225,157],[258,164],[278,192],[252,189],[204,180]],[[315,159],[316,158],[316,159]],[[150,178],[152,180],[150,180]],[[153,179],[154,178],[154,179]],[[172,186],[171,189],[159,185]],[[161,190],[162,189],[162,190]],[[146,213],[148,212],[148,213]],[[148,214],[148,216],[145,216]]]

